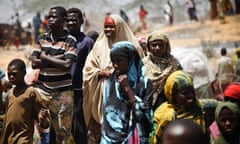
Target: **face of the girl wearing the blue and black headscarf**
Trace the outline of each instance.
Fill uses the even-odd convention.
[[[126,74],[128,72],[129,60],[125,57],[111,58],[113,67],[117,75]]]

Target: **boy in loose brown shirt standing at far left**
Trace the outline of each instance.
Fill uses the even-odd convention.
[[[21,59],[8,64],[10,89],[0,143],[33,143],[34,121],[46,129],[50,115],[39,93],[25,81],[26,65]]]

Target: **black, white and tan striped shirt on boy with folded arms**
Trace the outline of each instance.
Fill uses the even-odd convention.
[[[64,36],[53,40],[51,33],[40,35],[38,45],[33,50],[32,56],[39,58],[41,52],[60,59],[77,59],[76,39],[67,32]],[[72,78],[69,70],[44,63],[41,68],[39,87],[47,92],[64,91],[72,88]]]

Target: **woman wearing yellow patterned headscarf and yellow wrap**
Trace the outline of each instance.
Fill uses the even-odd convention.
[[[216,107],[216,101],[201,101],[200,105],[189,73],[182,70],[173,72],[166,80],[164,92],[167,102],[162,103],[154,112],[153,130],[149,143],[161,143],[164,128],[175,119],[191,119],[202,126],[203,131],[206,132],[203,109]]]

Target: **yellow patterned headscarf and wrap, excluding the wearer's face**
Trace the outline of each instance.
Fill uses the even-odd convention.
[[[199,101],[195,97],[195,104],[189,109],[177,104],[174,99],[182,88],[193,87],[192,76],[182,70],[173,72],[166,80],[164,92],[168,102],[161,104],[154,112],[154,130],[151,133],[151,143],[159,142],[165,126],[175,119],[192,119],[202,126],[205,132],[205,122]]]

